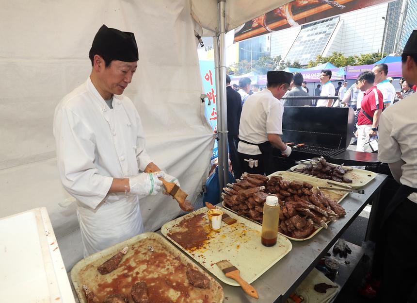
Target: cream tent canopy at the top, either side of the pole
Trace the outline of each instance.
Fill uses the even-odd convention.
[[[237,28],[247,21],[259,17],[289,0],[226,0],[226,32]],[[191,0],[191,14],[194,20],[206,31],[204,35],[212,36],[219,29],[217,0]],[[217,30],[216,30],[217,29]]]

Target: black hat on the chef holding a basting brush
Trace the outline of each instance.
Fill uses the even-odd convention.
[[[94,37],[92,47],[112,60],[135,62],[139,60],[135,35],[108,28],[103,24]]]

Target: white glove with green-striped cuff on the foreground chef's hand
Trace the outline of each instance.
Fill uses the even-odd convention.
[[[143,172],[129,178],[130,193],[133,195],[156,195],[160,191],[162,181],[158,178],[164,178],[163,171]]]

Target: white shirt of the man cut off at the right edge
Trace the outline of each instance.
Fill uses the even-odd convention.
[[[402,159],[400,182],[417,188],[417,94],[387,107],[379,121],[378,160],[394,163]],[[408,196],[417,203],[417,193]]]

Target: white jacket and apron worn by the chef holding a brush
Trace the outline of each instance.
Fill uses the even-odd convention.
[[[58,168],[64,188],[77,199],[84,256],[144,230],[138,196],[107,194],[113,178],[137,175],[151,162],[132,101],[114,95],[112,106],[88,78],[55,109]]]

